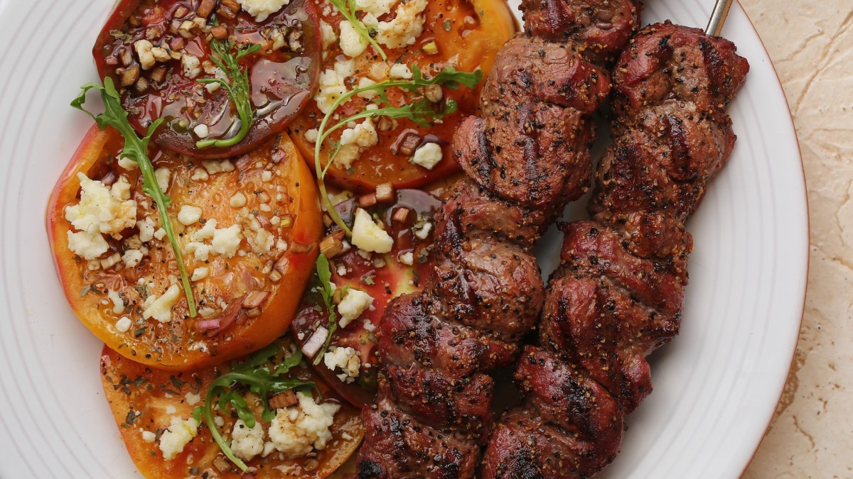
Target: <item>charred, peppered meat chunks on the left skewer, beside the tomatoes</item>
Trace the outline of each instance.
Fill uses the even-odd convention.
[[[610,94],[605,63],[635,32],[639,4],[522,3],[525,33],[504,46],[485,79],[482,116],[465,119],[453,139],[468,178],[438,211],[433,273],[423,292],[390,303],[377,327],[379,396],[363,411],[358,477],[477,473],[494,429],[489,372],[519,357],[519,341],[545,302],[533,244],[567,202],[589,189],[590,115]],[[556,361],[549,364],[558,368],[553,378],[570,375]],[[535,388],[538,379],[525,384]],[[572,384],[560,398],[601,390],[595,383]],[[567,418],[580,420],[595,403],[585,407]],[[601,430],[594,417],[582,430]],[[542,435],[563,426],[543,427]],[[608,425],[606,434],[621,435],[621,427]],[[534,465],[519,458],[522,463]]]

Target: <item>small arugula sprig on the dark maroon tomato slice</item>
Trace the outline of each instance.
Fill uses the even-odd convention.
[[[217,22],[214,22],[217,23]],[[237,109],[237,114],[240,116],[240,130],[235,136],[228,139],[207,139],[195,142],[195,147],[233,147],[243,140],[249,133],[254,119],[254,110],[252,109],[252,90],[249,87],[249,73],[240,66],[240,59],[246,55],[251,55],[260,51],[261,46],[258,43],[252,43],[251,46],[237,49],[233,51],[233,45],[230,40],[211,40],[211,48],[216,55],[211,55],[213,63],[225,72],[229,78],[199,78],[196,80],[200,84],[219,84],[220,87],[228,92],[229,98],[234,102]]]

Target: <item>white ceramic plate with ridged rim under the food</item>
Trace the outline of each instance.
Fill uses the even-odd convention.
[[[647,0],[646,22],[705,26],[713,0]],[[44,207],[90,119],[90,49],[112,0],[0,0],[0,476],[139,476],[101,389],[101,344],[56,280]],[[735,5],[724,35],[751,63],[729,108],[730,164],[689,227],[682,334],[605,477],[735,478],[769,423],[797,342],[808,261],[798,144],[773,66]],[[606,136],[606,134],[604,134]],[[554,236],[540,248],[553,267]]]

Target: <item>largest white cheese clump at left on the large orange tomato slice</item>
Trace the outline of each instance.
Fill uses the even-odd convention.
[[[77,177],[80,181],[80,202],[67,206],[65,219],[74,228],[88,234],[110,234],[116,240],[121,239],[121,232],[136,224],[136,201],[123,199],[124,188],[110,190],[82,172]]]

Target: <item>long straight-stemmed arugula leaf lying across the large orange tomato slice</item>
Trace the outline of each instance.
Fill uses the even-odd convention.
[[[96,115],[85,109],[86,94],[89,90],[96,89],[101,92],[101,99],[104,103],[104,113]],[[154,203],[157,204],[157,210],[160,212],[160,226],[165,230],[166,236],[169,237],[171,250],[175,253],[175,261],[177,262],[177,270],[181,275],[181,283],[183,284],[183,293],[187,296],[187,309],[189,315],[195,317],[195,298],[193,297],[193,289],[189,284],[189,276],[187,275],[187,267],[183,263],[181,256],[181,247],[177,244],[177,236],[171,227],[169,219],[169,211],[167,207],[171,203],[171,198],[165,195],[160,190],[160,185],[157,183],[157,177],[154,176],[154,165],[151,164],[151,159],[148,158],[148,143],[151,141],[151,136],[157,127],[163,123],[163,118],[157,118],[154,123],[148,126],[148,132],[144,138],[136,136],[136,130],[133,130],[131,123],[127,120],[127,111],[121,106],[121,97],[119,91],[115,89],[113,78],[104,78],[104,84],[85,84],[83,85],[80,94],[71,102],[71,106],[77,108],[81,112],[88,114],[95,119],[96,124],[101,130],[105,130],[107,126],[112,126],[119,130],[121,136],[125,138],[125,147],[121,152],[121,156],[126,159],[136,161],[139,165],[139,170],[142,171],[142,191],[147,193]]]

